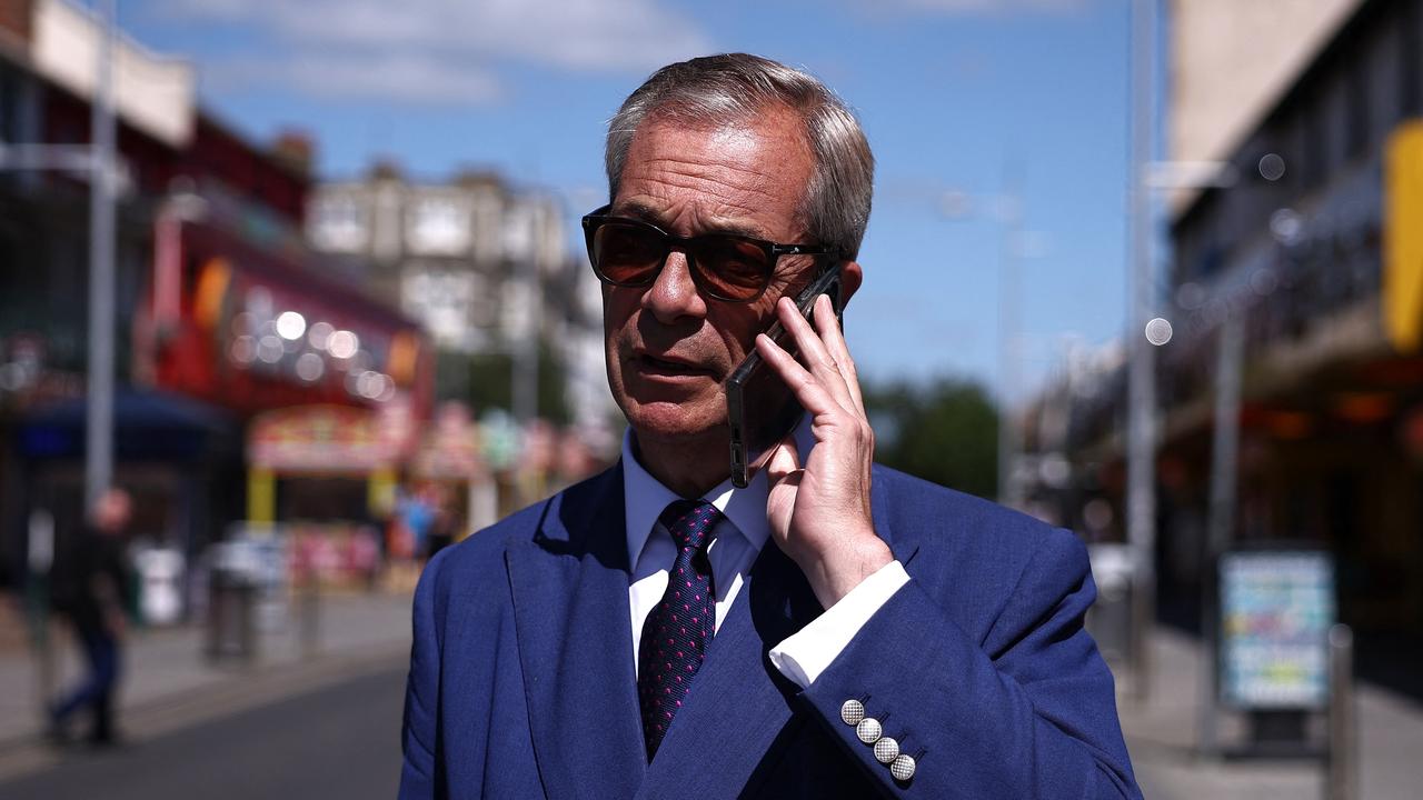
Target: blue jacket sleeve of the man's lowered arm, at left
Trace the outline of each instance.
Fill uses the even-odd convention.
[[[445,794],[438,763],[440,626],[435,621],[435,585],[443,555],[430,559],[416,588],[400,743],[404,756],[400,800],[433,800]]]

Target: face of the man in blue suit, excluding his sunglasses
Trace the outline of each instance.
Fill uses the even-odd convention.
[[[811,169],[803,127],[787,111],[719,130],[649,121],[633,137],[609,214],[682,236],[801,243],[808,239],[795,209]],[[723,383],[770,326],[776,300],[813,269],[808,258],[781,258],[754,303],[702,295],[680,252],[652,286],[605,286],[608,383],[639,441],[726,436]]]

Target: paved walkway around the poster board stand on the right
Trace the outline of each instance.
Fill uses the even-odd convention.
[[[1221,759],[1198,752],[1201,648],[1168,628],[1151,638],[1153,676],[1146,699],[1133,699],[1130,675],[1118,680],[1118,713],[1131,764],[1146,797],[1178,800],[1323,799],[1323,764],[1315,759]],[[1359,784],[1363,800],[1423,796],[1423,705],[1370,683],[1355,690]],[[1244,735],[1242,720],[1222,713],[1220,742]]]

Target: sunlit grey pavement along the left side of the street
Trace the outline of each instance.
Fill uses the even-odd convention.
[[[410,594],[324,594],[314,638],[296,608],[272,609],[250,659],[206,656],[201,625],[131,631],[124,651],[118,727],[149,740],[364,675],[403,669],[410,658]],[[81,655],[63,625],[51,628],[51,685],[70,686]],[[0,649],[0,780],[47,769],[61,754],[43,742],[44,670],[30,648]],[[85,720],[75,719],[75,730]]]

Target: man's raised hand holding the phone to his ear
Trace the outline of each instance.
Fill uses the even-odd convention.
[[[821,606],[830,608],[894,561],[869,514],[875,437],[830,298],[815,299],[815,329],[788,298],[776,307],[800,347],[801,366],[764,333],[756,349],[811,416],[815,448],[804,467],[787,437],[766,464],[771,535],[800,565]]]

